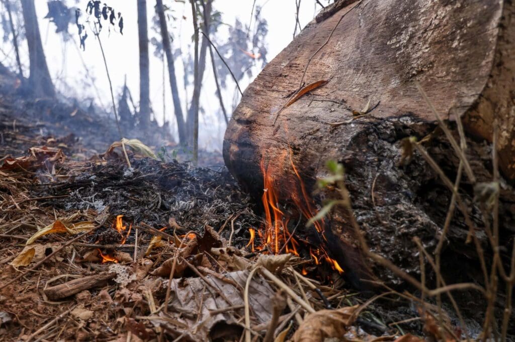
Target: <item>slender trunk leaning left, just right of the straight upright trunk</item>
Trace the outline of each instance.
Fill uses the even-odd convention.
[[[171,97],[174,100],[174,112],[177,119],[177,130],[179,131],[179,141],[182,145],[187,143],[186,125],[182,116],[181,100],[179,99],[179,89],[175,77],[174,57],[171,54],[170,40],[168,38],[168,28],[166,27],[166,17],[164,15],[163,0],[156,0],[156,10],[159,16],[163,48],[168,62],[168,75],[170,79]]]

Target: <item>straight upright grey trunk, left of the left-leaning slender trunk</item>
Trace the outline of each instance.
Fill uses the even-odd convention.
[[[140,41],[140,124],[148,127],[150,123],[150,78],[147,0],[138,0],[138,36]]]

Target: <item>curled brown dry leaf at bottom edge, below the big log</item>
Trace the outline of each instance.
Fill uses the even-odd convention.
[[[320,310],[306,316],[293,336],[294,342],[323,342],[325,338],[345,335],[353,323],[354,311],[358,308],[345,307],[338,310]]]

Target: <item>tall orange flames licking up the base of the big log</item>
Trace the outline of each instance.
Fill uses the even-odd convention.
[[[286,152],[284,153],[282,159],[284,160],[285,157]],[[310,220],[317,214],[317,211],[314,208],[313,200],[307,195],[304,182],[302,181],[300,174],[295,167],[295,164],[293,163],[293,153],[291,149],[290,164],[293,168],[293,173],[295,174],[295,184],[300,185],[300,194],[299,192],[293,192],[290,197],[295,203],[302,217],[306,220]],[[288,222],[290,221],[290,217],[289,215],[285,214],[283,210],[281,210],[276,180],[273,177],[273,170],[265,167],[264,158],[261,161],[261,170],[264,184],[263,196],[261,199],[265,209],[265,223],[258,230],[254,228],[249,229],[250,240],[247,244],[247,247],[250,246],[252,252],[255,250],[273,254],[281,254],[285,252],[299,256],[298,250],[301,242],[306,246],[309,246],[310,255],[314,264],[318,265],[320,264],[321,260],[324,260],[325,262],[329,263],[329,265],[331,265],[333,270],[338,271],[340,274],[344,273],[344,270],[340,267],[338,262],[332,259],[328,252],[324,249],[323,244],[325,241],[327,241],[327,238],[324,234],[324,220],[322,219],[320,221],[314,222],[315,230],[320,236],[322,243],[300,240],[298,238],[296,239],[295,232],[297,230],[298,224],[300,223],[300,218],[299,223],[297,223],[295,229],[290,233],[288,230]],[[258,246],[255,246],[256,231],[258,232],[258,236],[261,241],[261,245]],[[316,248],[314,246],[316,246]],[[303,269],[302,273],[307,273],[307,271]]]

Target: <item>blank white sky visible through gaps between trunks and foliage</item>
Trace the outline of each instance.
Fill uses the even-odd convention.
[[[222,12],[222,21],[226,24],[233,25],[235,18],[245,25],[249,23],[250,12],[254,0],[215,0],[213,7]],[[286,47],[293,39],[293,31],[295,28],[295,13],[296,3],[295,0],[255,0],[256,5],[263,6],[261,16],[268,22],[268,35],[266,43],[268,47],[267,60],[271,61],[284,47]],[[75,48],[73,42],[63,43],[62,36],[55,33],[55,25],[49,23],[43,17],[47,13],[46,0],[35,0],[36,11],[39,18],[40,30],[42,35],[43,46],[45,55],[56,88],[65,93],[73,94],[78,98],[93,98],[98,105],[95,91],[91,87],[85,87],[84,80],[84,65],[81,62],[79,52]],[[78,6],[83,10],[87,4],[87,0],[80,0]],[[124,35],[111,32],[107,30],[102,32],[102,43],[108,59],[108,66],[113,81],[113,88],[116,93],[121,91],[124,83],[124,78],[127,77],[127,85],[129,86],[133,99],[138,105],[139,102],[139,46],[138,46],[138,13],[136,10],[136,1],[132,0],[106,0],[109,6],[115,8],[116,11],[121,11],[124,16]],[[72,5],[73,1],[68,1],[68,5]],[[323,3],[327,3],[324,0]],[[155,1],[147,0],[148,4],[148,24],[149,24],[149,38],[153,36],[151,29],[152,16],[154,13],[153,6]],[[182,15],[186,17],[185,20],[180,19],[180,22],[170,24],[175,27],[174,34],[176,37],[179,35],[180,29],[180,43],[183,46],[183,51],[191,44],[191,36],[193,34],[193,24],[191,15],[191,6],[186,1],[186,5],[181,2],[164,0],[164,4],[171,7],[176,11],[177,17],[181,18]],[[314,0],[303,0],[300,5],[299,21],[302,27],[312,20],[316,11],[320,9],[319,6],[315,7]],[[169,25],[169,26],[170,26]],[[70,33],[78,42],[77,28],[70,25]],[[225,41],[227,36],[227,28],[219,32],[219,41]],[[179,39],[176,39],[173,44],[179,44]],[[191,46],[190,46],[191,47]],[[153,55],[153,46],[150,45],[150,99],[152,108],[156,113],[158,122],[163,121],[163,64],[161,59]],[[4,47],[4,51],[10,51],[10,47]],[[23,52],[25,51],[25,52]],[[88,66],[94,78],[97,80],[96,85],[99,88],[100,97],[104,108],[110,107],[110,94],[107,76],[102,62],[100,49],[98,43],[95,41],[93,34],[89,34],[86,41],[86,50],[80,51],[85,64]],[[5,62],[4,62],[5,63]],[[11,61],[12,63],[12,61]],[[23,42],[22,50],[22,63],[28,65],[28,55],[26,53],[26,43]],[[9,64],[9,63],[7,63]],[[12,65],[12,64],[11,64]],[[179,89],[182,90],[182,70],[183,65],[181,59],[177,59],[175,63],[177,72],[177,79],[179,82]],[[254,68],[254,74],[260,70]],[[27,76],[28,71],[26,72]],[[170,120],[171,127],[175,127],[175,119],[173,113],[173,103],[171,102],[171,93],[169,90],[169,82],[167,77],[167,70],[165,70],[165,115],[167,120]],[[65,80],[65,83],[71,87],[68,88],[63,82],[58,79]],[[246,79],[240,84],[242,90],[248,85],[250,80]],[[89,83],[89,81],[88,81]],[[228,115],[232,112],[232,91],[234,83],[231,80],[227,81],[228,91],[224,94],[224,103],[228,111]],[[211,61],[209,53],[206,61],[206,69],[202,84],[201,105],[206,111],[205,115],[200,117],[200,146],[210,150],[220,150],[222,139],[225,132],[225,121],[221,117],[219,111],[218,99],[215,96],[215,84],[213,72],[211,69]],[[193,90],[188,90],[188,97],[191,96]],[[181,93],[183,102],[183,110],[185,112],[185,94]],[[190,99],[188,98],[188,101]],[[130,137],[127,137],[130,138]]]

